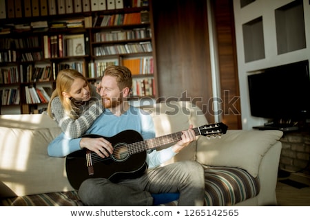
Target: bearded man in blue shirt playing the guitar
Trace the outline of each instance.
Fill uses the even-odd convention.
[[[105,69],[99,87],[105,110],[86,133],[112,137],[124,130],[141,133],[144,140],[155,137],[152,117],[132,107],[124,100],[130,95],[132,74],[127,67],[110,66]],[[194,161],[159,165],[172,158],[195,140],[192,126],[183,131],[181,140],[162,151],[148,151],[146,162],[149,169],[134,179],[113,183],[105,178],[90,178],[83,181],[79,197],[87,206],[152,206],[152,195],[163,192],[179,192],[179,206],[203,206],[203,168]],[[48,146],[50,156],[65,156],[81,148],[88,148],[100,157],[108,157],[113,146],[103,137],[68,139],[63,134]]]

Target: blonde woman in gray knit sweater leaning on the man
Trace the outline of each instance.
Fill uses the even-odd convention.
[[[101,115],[103,107],[96,87],[74,69],[63,69],[56,78],[56,89],[48,103],[48,115],[65,135],[80,137]]]

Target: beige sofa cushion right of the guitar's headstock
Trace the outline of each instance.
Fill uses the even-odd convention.
[[[262,157],[282,135],[282,131],[230,130],[220,138],[200,136],[196,159],[209,166],[242,168],[257,177]]]

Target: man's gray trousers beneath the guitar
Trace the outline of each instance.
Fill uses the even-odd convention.
[[[183,161],[149,169],[141,177],[117,184],[104,178],[86,179],[79,197],[86,206],[152,206],[151,193],[180,192],[178,206],[203,206],[204,190],[203,167]]]

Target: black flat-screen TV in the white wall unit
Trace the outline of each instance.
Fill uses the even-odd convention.
[[[251,115],[278,120],[310,118],[309,61],[248,76]]]

